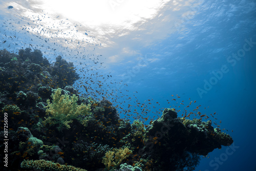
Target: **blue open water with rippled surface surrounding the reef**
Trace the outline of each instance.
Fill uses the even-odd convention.
[[[138,22],[92,26],[47,11],[41,1],[2,0],[0,49],[40,49],[52,61],[62,55],[77,69],[89,66],[87,76],[111,75],[92,77],[105,80],[101,89],[112,89],[108,98],[123,109],[151,99],[155,119],[163,108],[196,100],[190,108],[201,105],[201,113],[216,112],[216,122],[234,140],[202,158],[196,170],[255,170],[256,2],[178,3],[167,1]],[[120,2],[113,13],[124,6]],[[176,106],[179,117],[183,108]]]

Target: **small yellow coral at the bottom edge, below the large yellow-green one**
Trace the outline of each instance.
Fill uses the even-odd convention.
[[[132,154],[132,151],[129,148],[114,149],[114,151],[108,151],[105,153],[102,163],[108,169],[110,169],[110,166],[118,167],[130,154]]]

